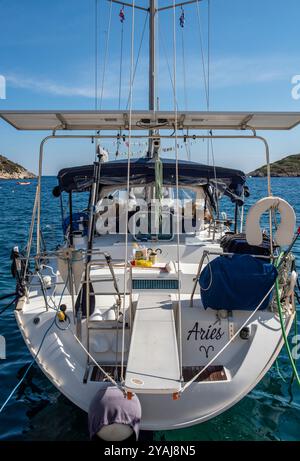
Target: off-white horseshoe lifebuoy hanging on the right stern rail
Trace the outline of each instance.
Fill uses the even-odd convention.
[[[293,241],[296,215],[291,205],[280,197],[265,197],[250,208],[246,219],[246,239],[249,245],[261,245],[262,231],[261,215],[270,208],[276,208],[280,213],[280,223],[274,235],[274,241],[279,246],[290,245]]]

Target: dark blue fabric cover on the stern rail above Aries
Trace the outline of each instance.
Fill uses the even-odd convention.
[[[199,278],[205,309],[255,310],[274,285],[277,269],[266,260],[250,255],[219,256],[201,272]],[[266,309],[272,291],[259,310]]]

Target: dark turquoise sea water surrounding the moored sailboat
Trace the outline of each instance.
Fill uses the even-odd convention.
[[[56,179],[44,178],[43,231],[50,247],[62,238],[59,201],[52,197]],[[273,192],[295,208],[300,224],[300,179],[274,178]],[[266,195],[265,179],[249,180],[251,204]],[[10,275],[10,251],[24,246],[28,236],[35,181],[18,186],[0,181],[0,293],[14,291]],[[228,211],[233,213],[228,205]],[[300,267],[300,241],[295,247]],[[0,302],[0,309],[5,301]],[[300,325],[299,325],[300,327]],[[300,331],[300,330],[299,330]],[[0,361],[0,406],[31,361],[11,310],[0,317],[0,334],[6,338],[7,358]],[[300,389],[290,385],[291,370],[285,350],[275,367],[235,407],[198,426],[156,432],[156,440],[300,440]],[[62,396],[35,365],[4,412],[0,414],[0,440],[87,440],[87,416]]]

